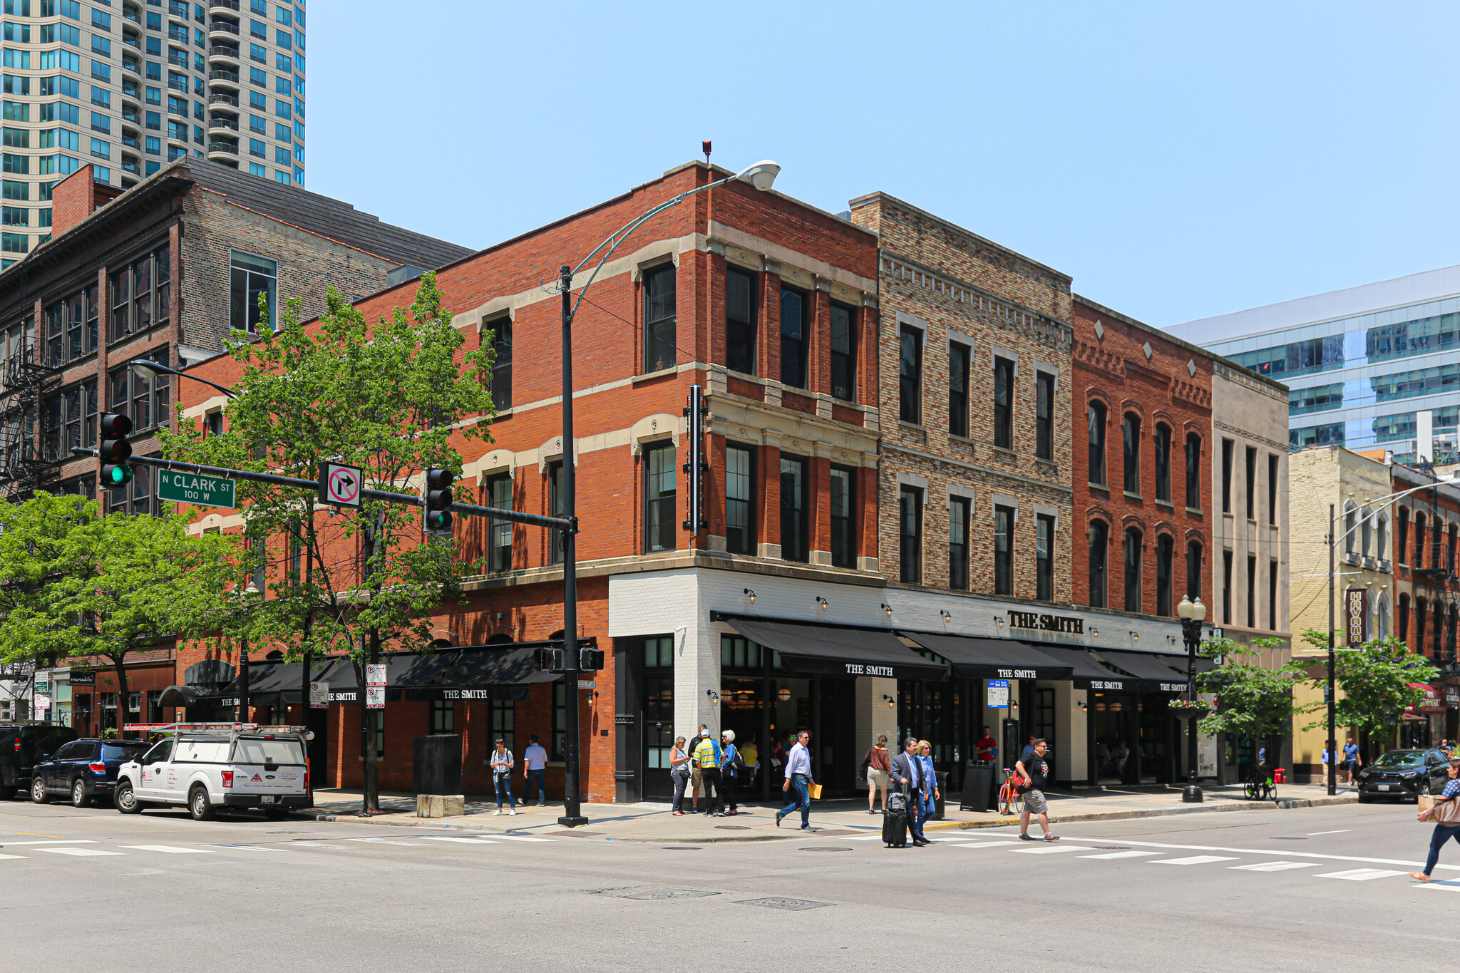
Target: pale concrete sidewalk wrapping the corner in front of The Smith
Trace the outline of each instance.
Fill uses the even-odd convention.
[[[1273,810],[1272,801],[1247,801],[1241,786],[1204,788],[1206,801],[1183,804],[1180,786],[1129,788],[1118,791],[1050,792],[1050,820],[1108,821],[1118,818],[1162,817],[1168,814],[1212,814],[1218,811]],[[1282,785],[1278,788],[1279,808],[1323,807],[1329,804],[1352,804],[1356,801],[1352,788],[1339,788],[1336,796],[1329,796],[1323,785]],[[562,804],[548,807],[517,805],[517,815],[492,815],[495,798],[469,796],[466,814],[445,818],[418,818],[416,798],[410,794],[383,792],[381,814],[359,817],[361,792],[358,789],[320,789],[314,792],[314,808],[298,814],[321,821],[369,821],[400,827],[451,829],[498,834],[553,834],[593,840],[650,842],[650,843],[707,843],[799,839],[800,817],[793,815],[775,827],[775,807],[742,804],[734,817],[707,818],[701,814],[685,814],[677,821],[669,804],[584,804],[583,814],[588,827],[562,829],[558,815]],[[828,837],[882,829],[882,814],[867,814],[861,801],[813,801],[812,827],[816,834]],[[927,829],[1002,827],[1016,824],[1018,818],[1000,817],[996,813],[959,811],[958,804],[948,805],[942,821],[929,821]]]

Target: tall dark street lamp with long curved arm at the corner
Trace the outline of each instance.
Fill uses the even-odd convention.
[[[745,179],[756,190],[765,193],[775,182],[780,171],[780,165],[769,159],[762,159],[731,177],[707,182],[688,193],[680,193],[620,226],[606,241],[594,247],[587,257],[578,261],[577,267],[564,264],[558,268],[558,293],[562,296],[562,516],[572,522],[572,530],[562,532],[562,635],[564,661],[566,662],[562,678],[566,683],[564,689],[566,690],[565,699],[568,700],[568,706],[565,708],[568,710],[568,725],[564,728],[565,741],[562,754],[564,815],[558,818],[558,824],[564,827],[581,827],[588,823],[588,818],[583,815],[583,805],[578,798],[578,778],[581,770],[578,759],[578,477],[574,470],[575,455],[572,439],[572,318],[578,312],[578,306],[583,305],[583,298],[588,293],[588,287],[593,286],[599,271],[603,270],[603,264],[645,220],[672,206],[683,203],[696,193],[704,193],[705,190],[739,179]],[[574,301],[572,277],[594,257],[599,257],[599,263],[593,267],[593,273],[588,274],[583,290],[578,292],[578,299]]]

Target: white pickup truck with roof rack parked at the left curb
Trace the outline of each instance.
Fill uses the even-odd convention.
[[[180,726],[140,760],[121,766],[117,810],[184,805],[193,820],[206,821],[222,805],[283,817],[310,804],[304,744],[311,735],[302,726]]]

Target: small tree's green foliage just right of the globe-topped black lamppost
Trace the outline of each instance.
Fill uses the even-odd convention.
[[[1245,737],[1286,735],[1292,732],[1292,686],[1298,678],[1291,667],[1263,668],[1251,659],[1259,649],[1283,645],[1282,639],[1257,639],[1253,648],[1232,639],[1202,643],[1200,655],[1223,664],[1197,675],[1197,691],[1215,693],[1216,709],[1200,722],[1203,734]]]

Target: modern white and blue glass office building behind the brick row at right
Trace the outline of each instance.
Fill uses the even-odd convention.
[[[1168,328],[1289,387],[1292,449],[1337,443],[1415,457],[1432,416],[1435,462],[1460,423],[1460,267],[1447,267]]]

